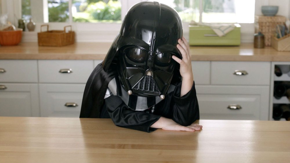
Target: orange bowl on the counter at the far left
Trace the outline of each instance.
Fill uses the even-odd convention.
[[[22,38],[22,29],[0,31],[0,45],[1,46],[11,46],[17,45]]]

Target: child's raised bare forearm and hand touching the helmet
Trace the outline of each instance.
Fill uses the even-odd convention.
[[[172,59],[180,64],[180,75],[182,76],[180,97],[182,97],[191,90],[193,85],[193,73],[191,68],[191,54],[187,41],[182,37],[182,40],[178,39],[178,43],[177,48],[181,52],[182,59],[176,56],[172,56]]]

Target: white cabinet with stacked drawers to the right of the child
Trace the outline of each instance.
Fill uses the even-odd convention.
[[[269,72],[270,62],[211,61],[210,84],[196,82],[200,118],[268,120]]]

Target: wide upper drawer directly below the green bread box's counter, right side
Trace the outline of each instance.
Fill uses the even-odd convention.
[[[211,84],[270,85],[270,62],[211,62]],[[244,70],[247,75],[235,75]]]

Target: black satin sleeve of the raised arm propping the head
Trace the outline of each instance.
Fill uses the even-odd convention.
[[[173,92],[173,100],[171,100],[171,102],[173,102],[173,104],[171,104],[172,119],[182,126],[188,126],[200,118],[199,107],[195,91],[195,83],[193,82],[191,90],[188,93],[180,97],[181,83],[182,82],[175,87]]]

